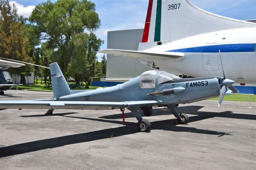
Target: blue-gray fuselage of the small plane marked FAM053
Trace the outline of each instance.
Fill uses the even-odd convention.
[[[154,88],[141,88],[139,77],[123,84],[103,89],[84,91],[63,96],[58,101],[144,101],[159,100],[163,104],[190,103],[220,95],[220,77],[177,79],[170,83],[158,84]],[[177,89],[178,88],[178,89]],[[148,95],[169,89],[168,95]],[[178,94],[178,95],[177,95]]]

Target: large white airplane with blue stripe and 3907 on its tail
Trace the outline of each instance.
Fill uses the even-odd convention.
[[[223,76],[224,69],[240,85],[256,84],[256,23],[206,12],[189,0],[149,0],[138,51],[100,52],[194,77]]]

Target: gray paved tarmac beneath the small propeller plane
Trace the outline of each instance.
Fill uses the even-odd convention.
[[[6,91],[0,100],[49,99],[52,92]],[[188,125],[157,108],[151,132],[136,132],[125,110],[0,111],[0,169],[256,169],[256,103],[180,105]]]

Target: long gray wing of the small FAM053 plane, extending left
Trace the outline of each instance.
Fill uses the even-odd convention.
[[[107,110],[159,105],[162,101],[0,101],[0,109],[85,109]]]

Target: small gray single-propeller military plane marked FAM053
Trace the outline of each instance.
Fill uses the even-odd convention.
[[[178,123],[187,124],[186,114],[179,114],[177,104],[192,103],[220,96],[220,107],[225,94],[237,90],[234,81],[222,77],[199,77],[182,79],[164,71],[146,71],[123,84],[96,90],[70,90],[57,63],[50,64],[53,99],[34,101],[0,101],[1,109],[124,109],[132,111],[138,120],[141,132],[150,131],[151,124],[143,119],[152,115],[152,106],[166,106],[177,118]],[[229,88],[229,89],[228,89]]]

